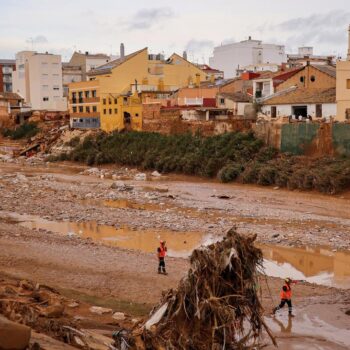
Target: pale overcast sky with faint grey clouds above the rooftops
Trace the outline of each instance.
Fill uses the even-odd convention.
[[[0,58],[34,49],[153,53],[187,50],[207,62],[214,46],[254,39],[283,44],[288,53],[345,56],[349,0],[0,0]]]

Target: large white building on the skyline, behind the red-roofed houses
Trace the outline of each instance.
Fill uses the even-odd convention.
[[[222,70],[225,78],[233,78],[242,67],[264,63],[280,65],[286,59],[283,45],[264,44],[249,37],[238,43],[215,47],[209,65]]]

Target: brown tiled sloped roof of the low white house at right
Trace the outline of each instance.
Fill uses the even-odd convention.
[[[264,100],[264,105],[289,105],[309,103],[335,103],[336,89],[306,89],[296,88],[281,91],[278,96],[272,96]]]

